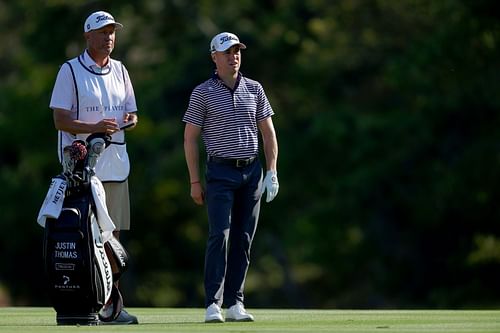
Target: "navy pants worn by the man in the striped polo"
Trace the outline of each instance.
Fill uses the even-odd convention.
[[[257,229],[262,188],[258,159],[245,167],[207,162],[205,199],[205,305],[243,302],[250,247]]]

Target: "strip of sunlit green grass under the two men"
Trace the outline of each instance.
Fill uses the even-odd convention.
[[[500,310],[249,309],[253,323],[205,324],[204,309],[129,308],[139,325],[56,326],[52,308],[0,308],[0,332],[500,332]]]

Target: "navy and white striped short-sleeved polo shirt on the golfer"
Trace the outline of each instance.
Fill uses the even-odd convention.
[[[257,123],[272,115],[259,82],[238,74],[231,90],[214,74],[194,88],[182,121],[201,127],[208,155],[248,158],[258,153]]]

